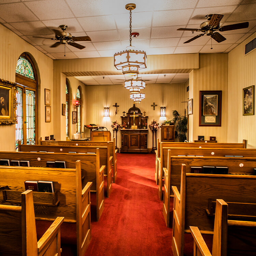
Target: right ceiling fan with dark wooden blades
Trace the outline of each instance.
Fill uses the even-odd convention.
[[[178,28],[177,30],[192,31],[192,33],[194,33],[194,31],[203,32],[202,34],[198,34],[195,37],[187,40],[186,42],[184,42],[184,44],[190,43],[191,41],[194,41],[195,39],[202,37],[205,34],[210,35],[210,37],[213,38],[215,41],[217,41],[218,43],[221,43],[225,41],[226,38],[223,37],[223,35],[221,35],[219,32],[214,32],[214,31],[218,30],[223,32],[223,31],[229,31],[229,30],[235,30],[235,29],[241,29],[241,28],[248,28],[249,26],[248,22],[243,22],[243,23],[231,24],[231,25],[220,27],[219,23],[223,18],[223,16],[224,15],[222,14],[208,14],[205,16],[207,21],[203,22],[200,25],[200,28]]]

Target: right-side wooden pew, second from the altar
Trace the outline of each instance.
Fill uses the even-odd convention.
[[[188,144],[188,143],[187,143]],[[214,143],[217,144],[217,143]],[[168,162],[168,150],[171,150],[171,156],[177,155],[194,155],[194,156],[244,156],[244,157],[256,157],[255,148],[182,148],[182,147],[163,147],[161,144],[160,152],[161,157],[158,158],[158,180],[162,180],[163,168],[167,168]],[[209,144],[208,144],[209,145]],[[177,184],[179,185],[179,184]],[[176,186],[176,185],[175,185]],[[162,199],[162,183],[158,183],[158,195],[160,200]]]

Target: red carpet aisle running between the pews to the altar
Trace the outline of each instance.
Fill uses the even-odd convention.
[[[155,183],[155,154],[118,154],[117,181],[86,255],[172,255]]]

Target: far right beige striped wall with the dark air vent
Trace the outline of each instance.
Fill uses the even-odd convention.
[[[256,85],[256,49],[244,54],[245,44],[256,33],[228,54],[228,141],[247,140],[247,147],[256,147],[256,113],[243,116],[243,88]],[[256,89],[256,88],[255,88]],[[254,97],[256,94],[254,93]],[[256,103],[256,101],[255,101]],[[254,106],[254,111],[256,111]]]

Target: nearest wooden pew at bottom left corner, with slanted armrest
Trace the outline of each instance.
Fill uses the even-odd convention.
[[[60,225],[57,217],[37,241],[32,190],[21,194],[22,206],[0,205],[0,255],[60,255]]]

